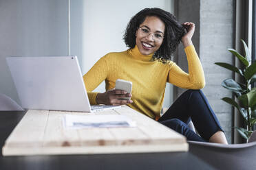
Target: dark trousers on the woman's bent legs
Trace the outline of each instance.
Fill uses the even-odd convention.
[[[191,119],[200,136],[187,125]],[[202,90],[186,90],[158,122],[186,136],[188,141],[209,141],[215,132],[224,132]]]

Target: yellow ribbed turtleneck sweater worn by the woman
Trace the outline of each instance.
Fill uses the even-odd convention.
[[[189,74],[185,73],[174,62],[166,64],[151,60],[152,55],[143,56],[138,47],[118,53],[107,53],[84,76],[89,101],[96,104],[94,90],[105,80],[106,90],[115,87],[117,79],[132,82],[134,101],[129,107],[156,119],[164,101],[164,90],[167,82],[180,88],[200,89],[204,87],[204,71],[193,45],[186,47],[189,63]]]

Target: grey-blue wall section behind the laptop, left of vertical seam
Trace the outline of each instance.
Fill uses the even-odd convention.
[[[19,99],[7,56],[67,55],[67,1],[0,0],[0,93]]]

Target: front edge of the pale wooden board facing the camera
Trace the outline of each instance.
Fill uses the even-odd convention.
[[[127,153],[154,153],[169,151],[188,151],[187,143],[172,145],[120,145],[104,147],[41,147],[26,149],[23,147],[10,147],[4,156],[30,156],[30,155],[72,155],[72,154],[127,154]]]

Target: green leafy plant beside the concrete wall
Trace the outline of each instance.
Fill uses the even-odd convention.
[[[238,69],[236,66],[225,62],[215,62],[215,64],[237,73],[243,79],[243,83],[235,82],[233,79],[224,80],[222,86],[231,90],[235,94],[238,102],[230,97],[224,97],[222,100],[237,108],[238,112],[242,114],[246,127],[235,127],[235,129],[243,138],[248,140],[253,132],[253,125],[256,123],[256,88],[251,88],[253,83],[256,82],[256,62],[250,63],[250,51],[248,50],[246,42],[244,42],[244,40],[242,40],[242,42],[245,56],[242,56],[235,49],[228,49],[228,51],[238,58],[239,62],[243,64],[244,69]]]

